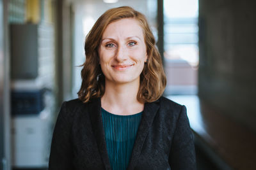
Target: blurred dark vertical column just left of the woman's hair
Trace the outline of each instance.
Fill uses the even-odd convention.
[[[57,107],[69,99],[72,85],[72,40],[70,35],[70,3],[56,3],[56,88]]]

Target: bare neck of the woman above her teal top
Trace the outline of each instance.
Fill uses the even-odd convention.
[[[143,111],[144,104],[137,99],[140,82],[116,84],[106,81],[101,98],[102,108],[116,115],[133,115]]]

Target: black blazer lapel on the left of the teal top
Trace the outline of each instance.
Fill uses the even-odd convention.
[[[102,161],[106,169],[111,169],[111,165],[108,159],[108,151],[107,151],[107,146],[105,141],[104,129],[102,125],[100,98],[93,99],[91,101],[88,111],[90,113],[93,133],[97,141],[97,145],[99,148],[100,155],[102,157]]]

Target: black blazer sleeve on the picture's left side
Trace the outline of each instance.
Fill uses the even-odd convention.
[[[66,103],[63,103],[52,136],[49,170],[74,169],[72,167],[71,127]]]

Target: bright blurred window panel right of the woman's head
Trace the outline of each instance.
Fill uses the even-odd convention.
[[[196,94],[198,0],[164,1],[166,95]]]

